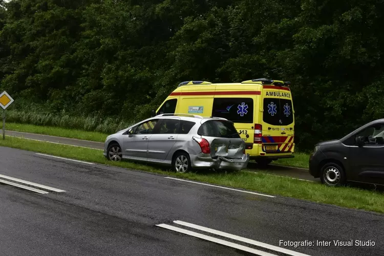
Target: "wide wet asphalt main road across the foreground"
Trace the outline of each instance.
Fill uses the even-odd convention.
[[[279,246],[280,240],[332,242],[329,246],[281,247],[308,255],[384,255],[384,215],[14,148],[0,147],[0,155],[1,179],[5,175],[65,190],[38,194],[0,183],[0,255],[255,255],[244,248],[288,255],[190,224],[273,246]],[[196,233],[190,231],[205,234],[204,239],[221,239],[226,245],[193,237],[190,234]],[[375,246],[334,246],[333,240],[370,240]],[[228,242],[246,247],[236,249]]]

